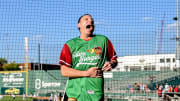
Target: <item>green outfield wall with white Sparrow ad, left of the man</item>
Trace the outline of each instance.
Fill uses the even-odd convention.
[[[24,73],[0,73],[0,91],[4,95],[6,92],[14,92],[12,88],[19,89],[18,95],[26,92],[47,94],[51,92],[63,92],[67,78],[62,77],[60,71],[29,71],[28,85],[26,85],[26,72]]]

